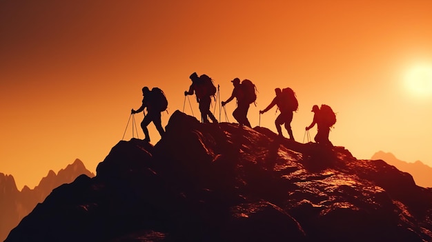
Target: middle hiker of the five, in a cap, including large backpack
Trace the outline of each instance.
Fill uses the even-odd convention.
[[[251,123],[249,123],[248,120],[248,110],[249,105],[257,99],[255,85],[248,79],[244,79],[242,83],[240,83],[240,79],[235,78],[231,82],[234,85],[233,93],[226,101],[222,101],[222,106],[225,106],[226,103],[236,98],[237,108],[233,112],[233,117],[239,122],[240,126],[246,125],[251,128]]]

